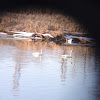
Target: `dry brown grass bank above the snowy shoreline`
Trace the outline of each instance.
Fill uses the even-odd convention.
[[[54,36],[62,34],[63,30],[70,32],[85,32],[82,25],[71,16],[46,10],[27,10],[20,12],[5,12],[0,16],[0,31],[48,32]]]

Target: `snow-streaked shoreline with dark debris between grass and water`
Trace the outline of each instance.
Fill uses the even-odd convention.
[[[30,33],[33,33],[29,36]],[[17,34],[18,36],[14,36]],[[24,34],[24,35],[23,35]],[[0,32],[1,39],[14,39],[14,40],[28,40],[28,41],[44,41],[44,42],[55,42],[57,44],[69,45],[84,45],[84,46],[96,46],[96,40],[91,37],[87,37],[88,34],[80,32],[63,32],[56,37],[50,37],[49,33],[34,33],[34,32],[19,32],[19,31],[4,31]],[[71,41],[71,42],[68,42]]]

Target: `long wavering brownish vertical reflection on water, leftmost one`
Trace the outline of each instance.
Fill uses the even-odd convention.
[[[14,54],[14,60],[15,60],[15,69],[13,74],[13,91],[14,95],[19,94],[19,80],[21,77],[21,68],[22,64],[26,62],[25,52],[21,50],[17,50]]]

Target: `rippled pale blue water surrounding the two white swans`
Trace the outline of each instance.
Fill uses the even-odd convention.
[[[99,76],[95,47],[0,39],[0,100],[99,100]]]

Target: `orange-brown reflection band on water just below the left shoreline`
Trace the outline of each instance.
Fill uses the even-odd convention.
[[[53,42],[33,42],[33,41],[25,41],[25,40],[10,40],[10,39],[0,39],[1,45],[10,45],[14,46],[20,50],[40,50],[41,48],[46,49],[57,49],[61,48],[61,46],[53,43]]]

